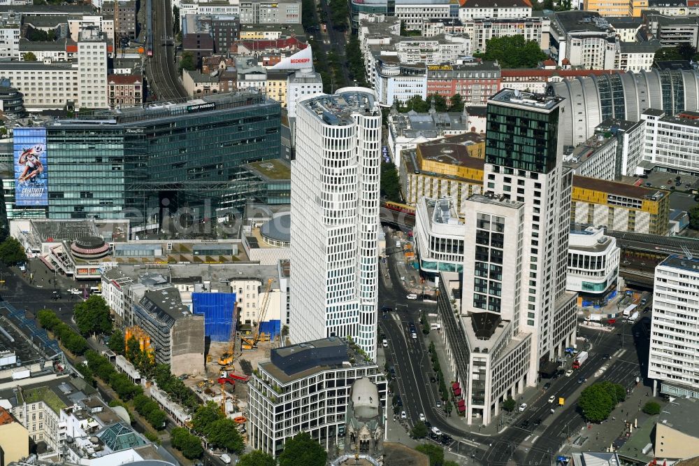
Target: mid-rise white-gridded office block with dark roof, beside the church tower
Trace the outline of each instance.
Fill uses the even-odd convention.
[[[333,451],[345,433],[352,383],[362,377],[376,384],[385,409],[384,375],[357,350],[335,337],[273,349],[248,384],[250,446],[278,456],[287,439],[308,432],[326,451]]]

